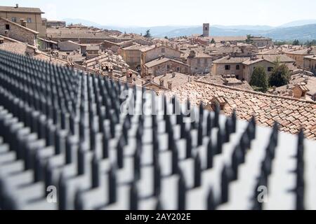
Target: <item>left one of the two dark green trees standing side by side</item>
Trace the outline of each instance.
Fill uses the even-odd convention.
[[[254,69],[249,84],[254,87],[254,90],[267,92],[268,78],[263,66],[258,66]]]

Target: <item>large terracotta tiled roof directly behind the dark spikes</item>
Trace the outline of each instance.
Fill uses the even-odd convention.
[[[225,114],[236,109],[237,116],[244,120],[256,117],[259,125],[271,127],[275,121],[279,129],[296,134],[303,127],[305,137],[316,140],[316,103],[305,100],[277,97],[253,91],[239,90],[202,81],[192,81],[166,92],[167,96],[176,94],[181,101],[189,97],[192,104],[211,104],[215,95],[223,96],[228,104]]]

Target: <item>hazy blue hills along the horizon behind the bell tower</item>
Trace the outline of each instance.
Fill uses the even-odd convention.
[[[81,23],[93,27],[103,29],[114,29],[126,33],[145,34],[147,29],[154,37],[176,37],[190,36],[192,34],[202,34],[202,26],[157,26],[157,27],[119,27],[111,25],[99,25],[96,22],[81,19],[65,19],[67,24]],[[211,36],[245,36],[251,34],[255,36],[270,37],[275,41],[292,41],[298,39],[300,41],[308,41],[316,39],[316,20],[298,20],[289,22],[279,27],[270,26],[223,26],[211,25]]]

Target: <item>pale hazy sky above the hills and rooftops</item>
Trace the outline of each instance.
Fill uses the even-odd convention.
[[[44,18],[81,18],[100,25],[282,25],[316,19],[315,0],[1,0],[39,7]]]

